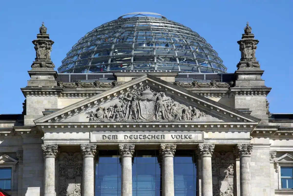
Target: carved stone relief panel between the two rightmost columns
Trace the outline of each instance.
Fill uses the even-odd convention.
[[[212,180],[214,196],[234,196],[233,152],[214,152],[212,156]]]

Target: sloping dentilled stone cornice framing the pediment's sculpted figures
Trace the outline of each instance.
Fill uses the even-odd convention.
[[[44,117],[40,117],[34,120],[34,122],[35,123],[62,122],[65,119],[73,117],[74,115],[85,113],[94,108],[97,108],[98,105],[104,104],[110,100],[114,100],[118,98],[119,96],[132,91],[135,88],[139,88],[143,86],[145,83],[147,83],[149,86],[154,86],[157,89],[168,91],[171,94],[173,93],[174,96],[180,96],[181,98],[184,98],[186,101],[193,102],[193,103],[196,102],[197,105],[200,104],[201,108],[207,107],[209,110],[214,110],[214,112],[219,113],[219,115],[227,115],[231,118],[235,118],[235,121],[242,121],[242,122],[259,122],[260,121],[258,118],[241,113],[238,110],[235,110],[234,108],[230,108],[226,105],[217,103],[213,100],[202,97],[196,93],[192,93],[191,91],[188,91],[184,88],[175,86],[159,78],[146,74],[130,82],[124,83],[108,91],[100,93],[96,96],[93,96],[85,100],[82,100],[78,103],[69,105],[61,110],[58,110]]]

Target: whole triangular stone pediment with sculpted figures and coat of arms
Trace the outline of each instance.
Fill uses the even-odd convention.
[[[34,122],[237,122],[260,120],[146,74]]]

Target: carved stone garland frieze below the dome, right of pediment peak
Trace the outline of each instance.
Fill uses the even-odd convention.
[[[193,81],[192,83],[180,83],[179,81],[175,81],[173,83],[176,86],[180,86],[183,88],[229,88],[233,87],[234,82],[230,81],[227,82],[215,82],[211,81],[209,83],[199,83],[198,81]]]

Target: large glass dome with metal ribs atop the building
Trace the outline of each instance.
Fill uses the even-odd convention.
[[[226,73],[212,46],[190,28],[148,12],[120,16],[81,38],[59,73],[162,70]]]

